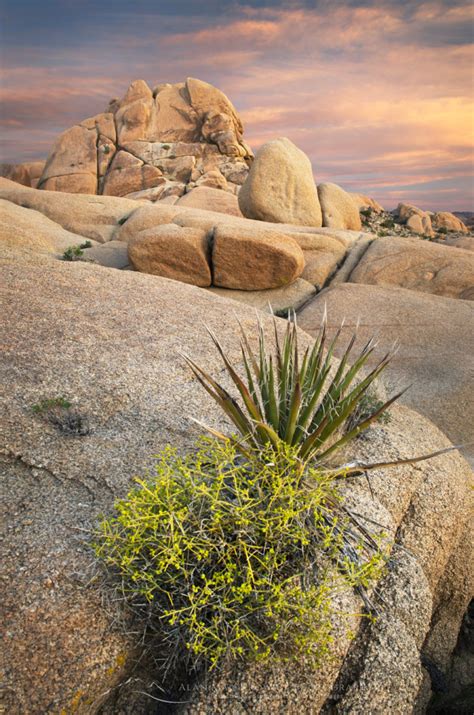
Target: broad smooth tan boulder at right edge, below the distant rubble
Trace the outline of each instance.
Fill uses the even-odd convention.
[[[380,238],[371,244],[349,281],[474,300],[474,255],[417,238]]]

